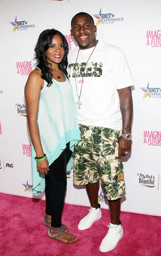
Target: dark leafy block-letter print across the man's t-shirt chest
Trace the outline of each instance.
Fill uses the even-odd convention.
[[[88,62],[85,70],[86,62],[82,63],[71,63],[68,65],[69,77],[100,77],[102,76],[102,62]]]

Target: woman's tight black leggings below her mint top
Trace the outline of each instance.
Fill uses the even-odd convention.
[[[46,214],[51,215],[51,226],[61,226],[61,215],[66,191],[66,164],[71,157],[69,143],[59,157],[49,166],[45,175]]]

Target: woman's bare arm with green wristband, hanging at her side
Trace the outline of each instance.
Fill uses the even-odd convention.
[[[43,88],[43,79],[41,71],[34,70],[30,73],[25,86],[25,99],[27,104],[27,122],[29,126],[30,137],[37,157],[44,155],[41,145],[39,127],[37,123],[37,115],[39,109],[40,91]],[[48,163],[47,160],[37,162],[37,170],[39,173],[47,174],[47,166],[42,163]]]

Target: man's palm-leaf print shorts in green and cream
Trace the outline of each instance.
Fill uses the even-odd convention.
[[[123,163],[118,160],[120,131],[79,124],[82,140],[74,145],[73,183],[87,185],[101,180],[104,195],[116,200],[125,195]]]

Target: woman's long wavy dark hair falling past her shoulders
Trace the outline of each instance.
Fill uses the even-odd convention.
[[[62,58],[61,63],[58,64],[58,67],[60,70],[63,71],[63,73],[67,77],[67,54],[69,51],[68,43],[64,37],[64,35],[55,29],[46,29],[41,32],[39,35],[36,47],[35,47],[35,53],[38,64],[37,67],[41,69],[41,77],[47,81],[47,87],[50,87],[52,84],[52,73],[51,73],[51,64],[46,61],[45,51],[47,51],[50,47],[52,38],[54,35],[60,35],[63,41],[64,45],[64,56]]]

